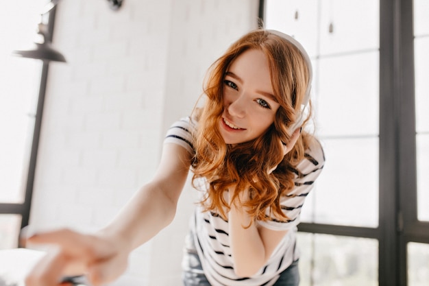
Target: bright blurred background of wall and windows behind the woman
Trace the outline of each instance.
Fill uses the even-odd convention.
[[[210,64],[263,23],[295,36],[315,71],[326,167],[299,226],[301,285],[428,285],[428,1],[118,2],[3,3],[0,249],[19,247],[27,224],[107,224],[154,174]],[[66,62],[12,56],[42,40],[38,23]],[[180,285],[195,200],[186,187],[120,281]]]

